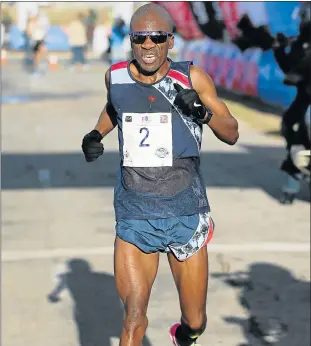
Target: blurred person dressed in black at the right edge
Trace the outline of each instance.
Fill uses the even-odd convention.
[[[311,103],[310,29],[311,22],[305,21],[300,26],[296,40],[290,42],[279,33],[273,46],[275,59],[286,75],[285,84],[297,88],[294,101],[282,117],[282,135],[286,141],[287,156],[281,165],[281,170],[288,176],[287,183],[283,187],[282,203],[292,203],[300,189],[302,174],[294,162],[295,147],[302,146],[310,150],[309,130],[306,124],[307,109]],[[289,43],[291,44],[287,52]]]

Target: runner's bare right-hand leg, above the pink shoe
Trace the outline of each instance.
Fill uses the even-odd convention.
[[[173,254],[168,255],[168,260],[179,293],[181,322],[193,331],[193,335],[198,336],[203,333],[206,325],[208,288],[206,246],[184,262],[179,262]]]

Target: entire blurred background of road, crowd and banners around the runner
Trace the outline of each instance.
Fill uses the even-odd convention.
[[[116,132],[86,164],[104,74],[132,58],[148,2],[1,2],[2,341],[114,346]],[[238,119],[236,146],[206,128],[202,172],[216,222],[204,344],[310,345],[310,2],[155,2]],[[145,345],[169,345],[179,306],[166,258]]]

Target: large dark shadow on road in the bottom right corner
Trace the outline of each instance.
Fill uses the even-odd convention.
[[[228,316],[225,321],[239,325],[246,344],[237,346],[309,346],[310,282],[296,279],[291,272],[270,263],[254,263],[248,272],[212,274],[238,291],[239,301],[249,318]]]

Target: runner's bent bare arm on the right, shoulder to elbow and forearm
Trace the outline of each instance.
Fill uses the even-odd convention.
[[[234,145],[239,138],[238,122],[225,103],[218,98],[211,77],[197,66],[191,66],[190,75],[193,89],[204,105],[213,112],[208,126],[222,142]]]

